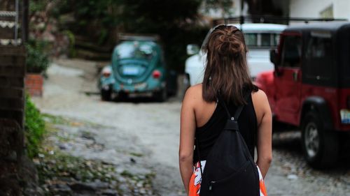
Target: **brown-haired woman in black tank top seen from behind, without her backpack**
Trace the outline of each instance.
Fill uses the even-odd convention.
[[[227,113],[218,104],[218,96],[228,105],[230,114],[235,113],[237,106],[245,105],[238,119],[239,131],[252,157],[255,146],[257,148],[256,165],[261,178],[265,178],[272,161],[272,114],[267,96],[253,85],[248,74],[243,33],[237,27],[220,25],[206,40],[207,66],[203,83],[186,91],[181,109],[179,164],[183,185],[191,196],[200,192],[199,163],[203,168],[220,134],[218,130],[223,130],[227,120]],[[195,135],[207,139],[199,144],[201,160],[194,151]]]

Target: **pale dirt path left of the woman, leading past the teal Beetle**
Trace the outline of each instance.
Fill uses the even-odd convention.
[[[98,95],[86,95],[97,92],[94,72],[94,63],[90,61],[55,61],[48,70],[49,79],[45,81],[43,98],[34,98],[34,102],[44,113],[114,128],[116,134],[101,133],[99,137],[104,137],[107,144],[147,149],[148,164],[158,173],[154,185],[160,195],[184,195],[177,166],[179,101],[102,102]],[[137,140],[123,140],[120,135]],[[109,152],[101,152],[99,156],[118,159]]]

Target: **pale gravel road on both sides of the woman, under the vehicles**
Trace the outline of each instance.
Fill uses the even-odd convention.
[[[178,166],[180,99],[103,102],[97,94],[96,70],[93,61],[56,59],[48,70],[43,97],[34,102],[44,113],[113,128],[115,135],[99,137],[105,137],[106,144],[137,146],[148,152],[146,164],[156,173],[153,185],[160,195],[185,195]],[[274,160],[266,178],[269,195],[350,195],[349,160],[335,169],[318,171],[304,163],[299,133],[275,134],[273,142]],[[104,158],[108,156],[106,152]]]

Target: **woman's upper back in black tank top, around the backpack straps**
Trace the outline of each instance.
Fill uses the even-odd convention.
[[[202,85],[199,84],[197,86],[197,91],[202,91],[201,87]],[[253,92],[255,92],[257,89],[253,90]],[[247,92],[247,94],[248,93],[251,93],[251,90]],[[251,156],[254,157],[254,148],[256,146],[257,134],[257,119],[251,95],[247,96],[246,102],[247,104],[244,105],[241,115],[238,119],[239,132],[243,136],[251,153]],[[237,110],[237,105],[232,102],[225,103],[225,105],[228,107],[231,116],[233,116]],[[195,108],[195,110],[196,109],[197,111],[195,112],[195,118],[197,125],[195,135],[200,139],[199,146],[201,159],[206,160],[211,147],[214,145],[218,135],[220,135],[221,131],[223,130],[225,122],[229,116],[223,107],[223,103],[220,103],[220,101],[218,101],[218,103],[206,103],[204,100],[201,101],[199,99],[197,108]],[[193,160],[194,163],[198,161],[197,153],[194,153]]]

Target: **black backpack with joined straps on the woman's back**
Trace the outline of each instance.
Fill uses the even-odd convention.
[[[228,113],[228,121],[207,156],[204,170],[200,165],[202,182],[200,196],[258,196],[260,195],[258,168],[239,133],[237,119],[244,105],[232,117],[221,98],[218,102]],[[198,140],[196,140],[198,146]],[[200,158],[200,149],[197,148]]]

